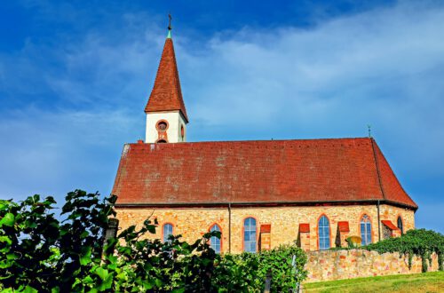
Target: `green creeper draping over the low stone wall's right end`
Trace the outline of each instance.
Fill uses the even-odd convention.
[[[409,230],[400,237],[369,244],[365,249],[377,250],[379,253],[399,252],[401,255],[408,255],[409,267],[412,265],[414,255],[422,257],[423,272],[427,272],[426,259],[432,263],[432,253],[435,252],[438,255],[440,271],[443,270],[444,235],[432,230]]]

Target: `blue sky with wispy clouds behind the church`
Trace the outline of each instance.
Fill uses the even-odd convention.
[[[241,4],[242,3],[242,4]],[[0,197],[109,194],[143,138],[167,14],[188,140],[364,137],[444,233],[440,1],[6,1]]]

